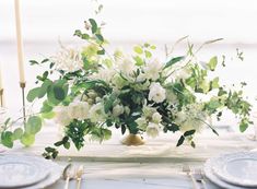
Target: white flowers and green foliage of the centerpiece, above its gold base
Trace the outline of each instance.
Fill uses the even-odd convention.
[[[218,134],[208,119],[213,115],[220,119],[224,109],[238,117],[241,131],[252,123],[250,105],[243,91],[226,90],[219,78],[209,76],[219,60],[213,56],[208,62],[199,61],[196,52],[201,47],[195,49],[188,42],[185,55],[168,54],[162,61],[154,56],[156,47],[148,43],[135,46],[132,55],[119,50],[110,54],[103,25],[93,19],[84,24],[74,36],[85,40],[85,46],[62,46],[55,57],[31,61],[35,66],[48,63],[27,95],[28,102],[42,99],[42,108],[28,116],[24,128],[10,130],[12,121],[7,120],[1,131],[3,145],[11,147],[14,140],[31,145],[44,119],[55,119],[63,129],[56,146],[69,149],[73,142],[78,150],[84,145],[85,135],[109,139],[112,128],[121,133],[147,132],[153,138],[160,132],[179,132],[176,145],[187,141],[195,147],[194,135],[203,127]],[[44,155],[55,157],[57,153],[55,147],[46,147]]]

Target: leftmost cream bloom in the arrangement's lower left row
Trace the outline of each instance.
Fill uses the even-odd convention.
[[[68,106],[58,106],[55,108],[55,122],[60,126],[69,126],[72,118],[69,116]]]

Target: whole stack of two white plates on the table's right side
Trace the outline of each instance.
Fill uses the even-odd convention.
[[[224,154],[219,157],[210,158],[206,162],[203,172],[208,179],[219,187],[225,189],[243,189],[256,188],[254,180],[257,176],[256,161],[257,153],[255,152],[238,152]],[[249,164],[253,167],[248,166]],[[245,174],[245,175],[244,175]],[[250,175],[250,176],[249,176]]]

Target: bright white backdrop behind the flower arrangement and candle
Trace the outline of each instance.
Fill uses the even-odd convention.
[[[28,60],[42,59],[58,50],[58,38],[63,44],[79,44],[72,34],[93,16],[92,0],[20,0],[22,31],[28,88],[39,70]],[[220,76],[225,83],[246,81],[250,99],[257,95],[257,1],[256,0],[102,0],[105,36],[113,47],[151,42],[163,49],[177,38],[189,35],[195,44],[212,38],[223,42],[207,47],[201,55],[235,57],[235,48],[244,51],[244,62],[233,58]],[[182,46],[184,47],[184,46]],[[179,47],[178,51],[182,51]],[[163,56],[160,52],[157,56]],[[15,46],[14,0],[0,1],[0,62],[2,63],[5,104],[11,111],[21,107]]]

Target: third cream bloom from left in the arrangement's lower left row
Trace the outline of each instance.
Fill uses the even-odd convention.
[[[104,107],[101,103],[97,103],[90,108],[90,119],[92,122],[104,121],[105,116]]]

